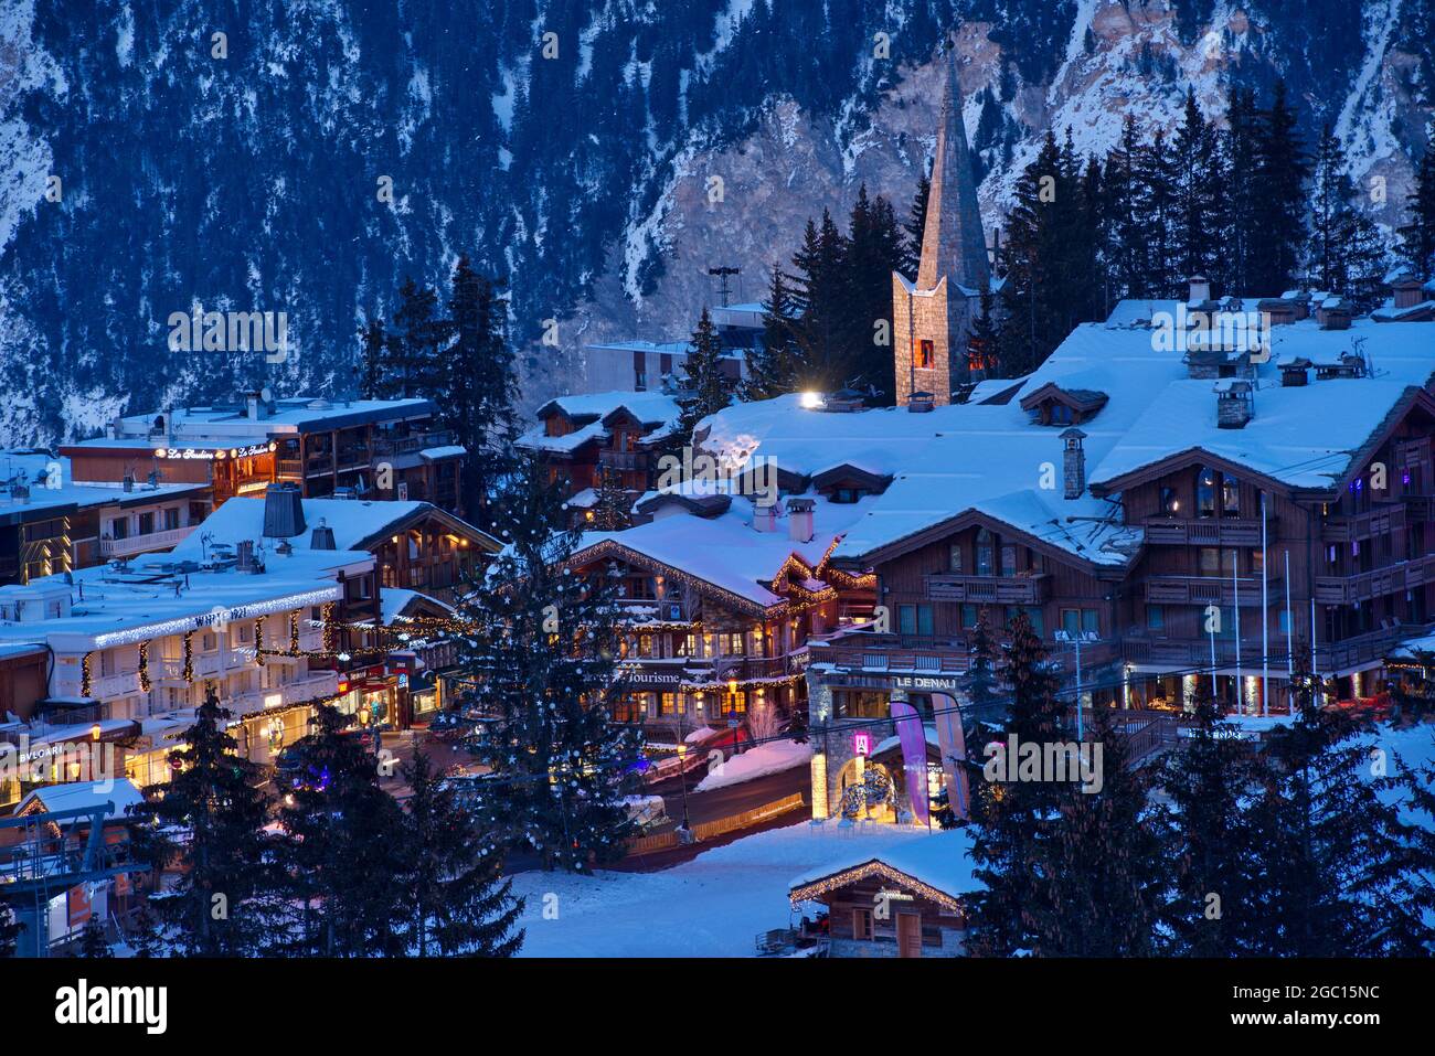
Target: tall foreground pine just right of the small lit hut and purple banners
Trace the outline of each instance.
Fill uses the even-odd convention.
[[[1026,613],[1010,626],[1003,682],[1010,690],[1010,716],[993,739],[1003,748],[1007,735],[1019,743],[1048,745],[1062,739],[1063,715],[1056,700],[1056,676]],[[1040,935],[1032,923],[1050,913],[1049,891],[1033,882],[1050,857],[1048,844],[1059,838],[1062,792],[1052,782],[987,781],[980,752],[969,752],[971,786],[973,877],[982,890],[967,900],[967,950],[984,957],[1010,957],[1017,950],[1039,953]],[[1007,768],[1016,760],[1009,759]]]

